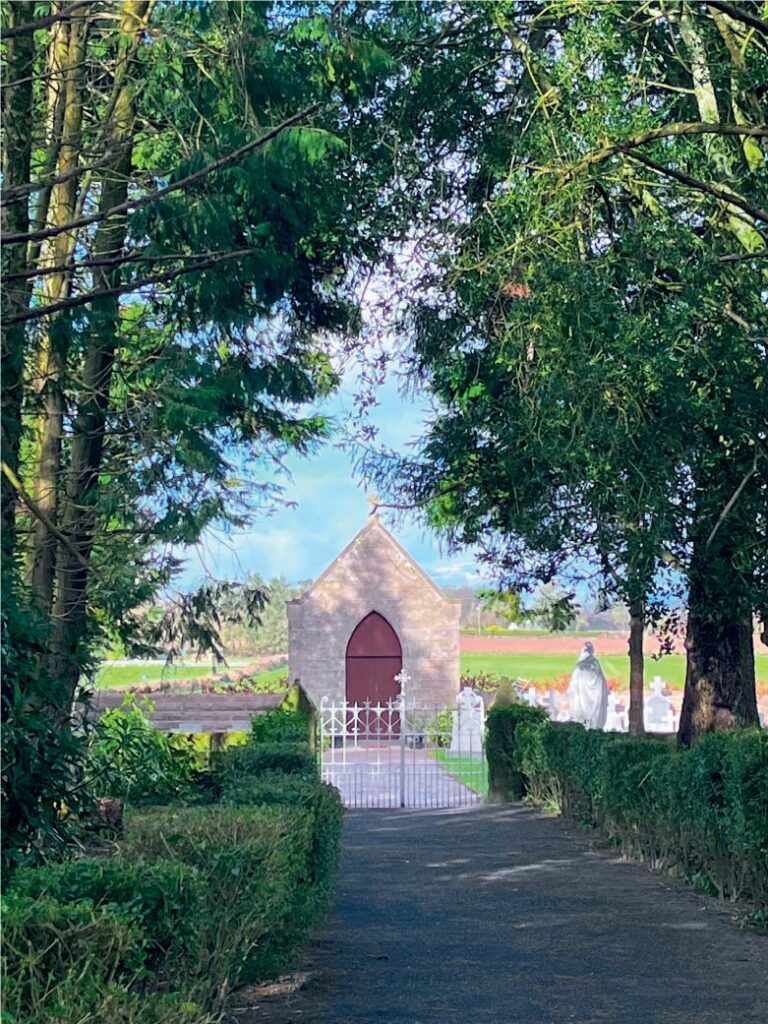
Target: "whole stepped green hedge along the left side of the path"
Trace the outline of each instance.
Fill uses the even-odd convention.
[[[213,1024],[274,977],[325,912],[338,793],[306,744],[219,755],[205,806],[129,811],[111,857],[16,871],[3,901],[3,1020]]]

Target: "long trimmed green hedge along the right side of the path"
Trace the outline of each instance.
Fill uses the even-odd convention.
[[[505,778],[519,767],[515,796],[554,804],[627,855],[768,914],[768,733],[713,733],[677,750],[667,737],[519,717],[517,725],[497,728],[487,746],[492,777],[494,760]]]

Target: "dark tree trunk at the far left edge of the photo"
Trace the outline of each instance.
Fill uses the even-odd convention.
[[[8,7],[9,27],[23,26],[35,17],[33,0]],[[2,91],[3,184],[6,188],[25,185],[30,180],[32,153],[33,65],[32,33],[9,39],[6,43],[5,88]],[[29,206],[22,199],[3,210],[2,227],[11,234],[28,230]],[[3,273],[27,269],[27,246],[24,242],[8,246],[3,253]],[[23,312],[29,305],[31,285],[23,279],[5,287],[3,310],[9,315]],[[24,391],[24,355],[26,332],[23,324],[4,328],[2,337],[2,459],[13,473],[18,473],[18,450],[22,439],[22,396]],[[3,554],[13,553],[15,541],[16,492],[3,473],[0,477]]]

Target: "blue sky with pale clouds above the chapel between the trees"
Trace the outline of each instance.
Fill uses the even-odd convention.
[[[400,395],[394,379],[387,380],[378,397],[380,403],[370,418],[379,429],[380,440],[406,451],[427,415],[426,402]],[[323,411],[342,423],[351,408],[352,386],[345,383]],[[296,502],[296,507],[278,508],[269,516],[254,519],[247,531],[228,537],[207,535],[198,549],[185,553],[188,560],[182,586],[199,583],[206,570],[226,580],[242,580],[254,571],[265,579],[313,580],[366,524],[371,512],[370,492],[357,485],[349,455],[333,440],[307,459],[287,459],[286,467],[290,478],[283,481],[283,497]],[[390,525],[386,511],[381,517]],[[449,554],[434,535],[413,522],[399,521],[393,532],[439,585],[481,586],[471,552]]]

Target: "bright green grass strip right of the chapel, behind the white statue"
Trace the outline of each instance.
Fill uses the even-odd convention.
[[[629,686],[630,659],[626,654],[599,654],[600,665],[608,679],[620,680],[620,685]],[[509,676],[513,679],[529,679],[534,683],[544,683],[558,676],[570,676],[575,665],[572,654],[482,654],[465,651],[461,655],[462,674]],[[758,681],[768,681],[768,654],[758,654],[756,658]],[[660,676],[670,686],[682,687],[685,680],[685,655],[668,654],[654,662],[645,658],[645,678]]]

